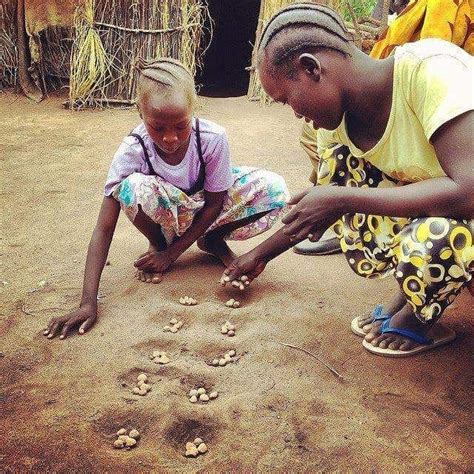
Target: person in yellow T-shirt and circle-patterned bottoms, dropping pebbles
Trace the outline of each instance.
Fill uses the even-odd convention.
[[[333,10],[294,4],[264,30],[258,67],[274,100],[323,129],[318,186],[295,197],[287,225],[234,261],[224,280],[255,278],[333,225],[357,274],[393,275],[400,285],[364,347],[406,356],[451,341],[454,333],[434,323],[474,267],[472,57],[423,40],[373,59]],[[354,321],[364,335],[360,326]]]

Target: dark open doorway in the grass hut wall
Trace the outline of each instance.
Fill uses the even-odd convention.
[[[245,95],[260,0],[207,0],[214,22],[211,44],[196,77],[200,94],[212,97]]]

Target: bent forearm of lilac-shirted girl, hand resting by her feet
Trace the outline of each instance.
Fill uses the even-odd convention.
[[[199,237],[203,236],[217,219],[222,210],[226,193],[227,191],[218,193],[204,191],[204,207],[196,215],[189,229],[163,252],[147,252],[135,262],[135,266],[146,272],[164,272]]]

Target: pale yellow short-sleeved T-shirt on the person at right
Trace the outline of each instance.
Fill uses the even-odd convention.
[[[446,176],[430,139],[444,123],[474,110],[474,59],[439,39],[409,43],[394,54],[392,109],[380,141],[362,152],[348,137],[344,117],[335,130],[318,131],[319,155],[343,144],[354,156],[405,183]]]

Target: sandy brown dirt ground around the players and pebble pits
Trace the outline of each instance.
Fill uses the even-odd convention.
[[[244,98],[205,99],[202,117],[225,126],[233,162],[283,174],[292,192],[309,165],[291,111]],[[2,442],[7,472],[467,471],[472,451],[473,300],[463,292],[444,322],[449,347],[405,360],[369,354],[354,316],[391,297],[391,279],[357,277],[343,256],[287,252],[245,294],[218,285],[221,266],[196,247],[160,285],[133,278],[146,242],[120,217],[105,267],[99,320],[85,336],[46,340],[52,316],[79,303],[103,183],[132,110],[70,112],[0,96],[2,198]],[[255,245],[236,243],[238,252]],[[40,282],[45,281],[44,286]],[[37,290],[37,291],[33,291]],[[183,307],[183,295],[199,305]],[[184,321],[164,333],[170,318]],[[229,319],[237,334],[220,334]],[[279,343],[318,354],[342,375]],[[237,363],[207,365],[235,349]],[[158,366],[148,356],[165,350]],[[136,375],[152,390],[132,395]],[[204,385],[219,397],[189,403]],[[112,448],[121,427],[141,439]],[[209,451],[184,457],[199,436]]]

